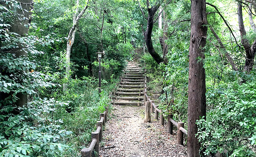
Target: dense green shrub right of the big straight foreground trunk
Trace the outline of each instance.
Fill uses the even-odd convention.
[[[219,86],[217,93],[207,93],[207,100],[215,97],[208,110],[206,121],[197,121],[197,137],[202,143],[204,154],[223,152],[227,156],[256,156],[255,145],[256,81],[244,84],[232,82]],[[217,88],[217,89],[218,89]],[[215,89],[216,90],[216,89]],[[209,104],[209,105],[211,105]]]

